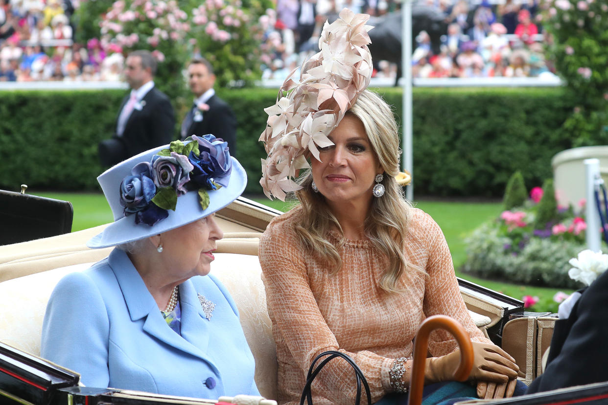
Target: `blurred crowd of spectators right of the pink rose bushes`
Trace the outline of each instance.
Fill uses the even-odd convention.
[[[542,0],[417,0],[443,16],[445,32],[436,43],[416,35],[413,77],[539,77],[551,74],[544,59],[539,3]],[[281,80],[316,52],[325,21],[348,7],[354,13],[394,12],[393,0],[277,0],[274,21],[266,22],[263,77]],[[378,21],[378,20],[376,20]],[[439,36],[438,36],[439,37]],[[395,63],[375,60],[374,77],[395,78]]]

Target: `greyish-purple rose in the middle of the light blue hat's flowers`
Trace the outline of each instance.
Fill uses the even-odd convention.
[[[152,158],[154,184],[159,187],[171,187],[178,196],[183,196],[187,190],[185,183],[190,181],[192,163],[187,156],[171,152],[170,156],[155,155]]]

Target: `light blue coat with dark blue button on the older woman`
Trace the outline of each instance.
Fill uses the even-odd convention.
[[[89,387],[208,399],[259,395],[254,356],[226,287],[213,276],[195,276],[179,285],[179,294],[181,336],[126,253],[114,249],[57,284],[44,316],[41,355],[80,373]],[[215,303],[210,320],[198,294]]]

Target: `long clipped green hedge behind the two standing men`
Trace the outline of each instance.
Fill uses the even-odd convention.
[[[400,121],[401,89],[378,91]],[[96,189],[97,143],[114,132],[123,94],[0,92],[0,187]],[[263,108],[274,103],[277,90],[221,89],[218,94],[237,114],[237,158],[249,175],[246,191],[260,192],[264,152],[258,138],[267,118]],[[576,138],[561,131],[571,109],[561,88],[415,89],[415,194],[502,196],[516,170],[528,188],[541,185],[551,177],[551,157]]]

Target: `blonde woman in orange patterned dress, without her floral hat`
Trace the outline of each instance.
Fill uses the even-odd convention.
[[[472,381],[489,396],[511,396],[519,368],[473,324],[437,223],[404,199],[392,113],[363,92],[311,159],[296,192],[300,205],[264,232],[260,263],[277,342],[279,403],[299,403],[309,365],[325,350],[350,355],[373,401],[409,386],[412,341],[431,315],[457,319],[475,348]],[[384,194],[379,190],[384,188]],[[425,382],[449,381],[459,361],[451,335],[431,335]],[[314,403],[353,403],[356,384],[345,362],[330,362],[313,385]],[[485,396],[480,384],[479,394]],[[474,396],[465,384],[434,384],[439,403]],[[403,400],[389,395],[381,403]],[[428,402],[427,402],[428,403]]]

